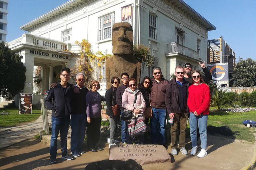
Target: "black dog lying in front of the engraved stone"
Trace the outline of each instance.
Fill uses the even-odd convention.
[[[98,162],[89,163],[84,170],[143,170],[142,166],[135,160],[129,159],[127,161],[120,160],[102,160]]]

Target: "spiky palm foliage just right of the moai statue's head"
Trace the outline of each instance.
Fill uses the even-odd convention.
[[[154,62],[154,57],[150,53],[149,47],[144,44],[133,45],[133,56],[141,62],[141,70],[150,67]]]

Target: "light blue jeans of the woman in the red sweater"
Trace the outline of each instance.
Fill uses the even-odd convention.
[[[201,139],[201,148],[206,149],[207,146],[207,119],[208,115],[195,116],[192,112],[189,113],[190,137],[192,146],[197,146],[197,124]]]

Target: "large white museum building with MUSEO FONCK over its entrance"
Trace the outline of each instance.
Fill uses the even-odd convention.
[[[27,68],[24,93],[32,93],[34,65],[42,67],[46,91],[65,63],[74,65],[63,51],[78,52],[75,41],[86,39],[94,51],[112,54],[112,25],[122,21],[131,23],[135,44],[150,47],[152,68],[161,67],[167,79],[177,65],[190,62],[198,69],[198,61],[207,61],[207,32],[216,29],[182,0],[69,0],[21,26],[28,34],[8,43]],[[143,70],[141,77],[151,77],[152,68]]]

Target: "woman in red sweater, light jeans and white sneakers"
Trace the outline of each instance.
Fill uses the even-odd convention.
[[[192,141],[191,155],[196,155],[197,149],[197,124],[201,139],[201,151],[197,155],[199,158],[207,156],[207,118],[210,108],[210,89],[204,83],[199,71],[192,72],[192,85],[188,88],[188,108],[189,108],[189,125],[190,137]]]

